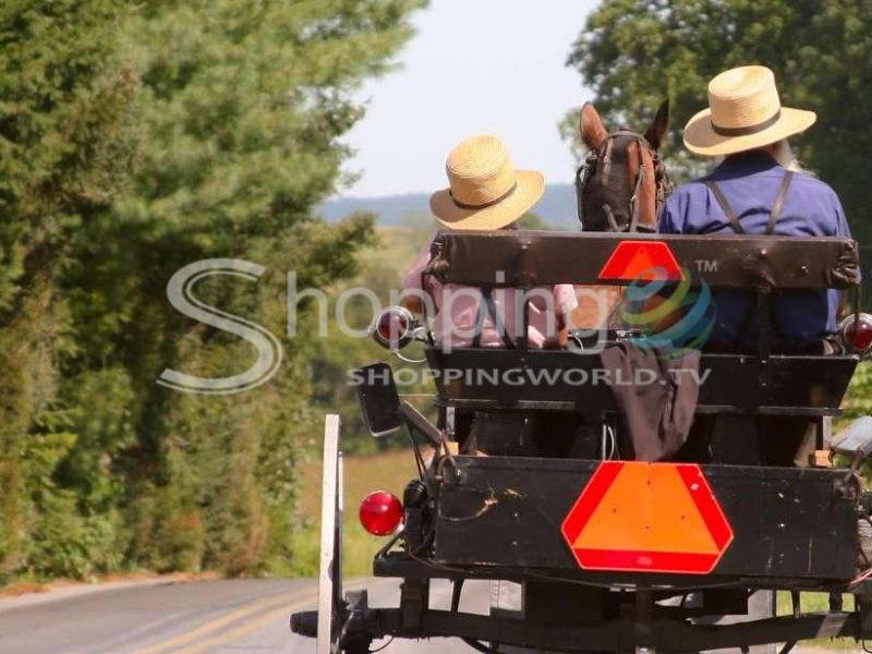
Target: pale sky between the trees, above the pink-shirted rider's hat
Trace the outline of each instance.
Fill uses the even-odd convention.
[[[516,168],[548,182],[573,174],[557,123],[591,99],[566,68],[594,0],[431,0],[398,71],[366,84],[366,116],[343,143],[347,171],[363,177],[344,196],[432,192],[447,185],[445,158],[464,138],[494,134]]]

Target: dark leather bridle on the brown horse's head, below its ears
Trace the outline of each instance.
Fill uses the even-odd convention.
[[[639,170],[634,180],[623,174],[629,166],[630,145],[639,147]],[[654,170],[649,171],[641,157],[646,150],[654,162]],[[637,232],[655,231],[654,227],[640,226],[639,194],[645,175],[654,174],[656,184],[656,209],[659,217],[666,198],[673,192],[673,184],[666,174],[666,167],[647,140],[629,130],[620,129],[606,136],[605,141],[588,153],[584,164],[576,172],[576,196],[578,199],[579,220],[582,229],[590,231]],[[630,197],[625,208],[625,197]],[[602,207],[607,225],[594,225],[592,219],[584,220],[584,205]]]

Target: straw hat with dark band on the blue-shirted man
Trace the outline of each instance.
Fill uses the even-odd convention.
[[[770,69],[746,65],[708,83],[708,109],[690,119],[685,145],[698,155],[722,157],[776,143],[815,120],[814,111],[782,107]]]

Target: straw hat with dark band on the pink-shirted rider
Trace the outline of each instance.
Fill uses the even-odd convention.
[[[451,229],[501,229],[523,216],[545,191],[541,172],[514,170],[506,145],[473,136],[448,155],[449,189],[434,193],[429,207]]]

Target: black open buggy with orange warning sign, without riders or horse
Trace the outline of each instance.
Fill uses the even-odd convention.
[[[427,363],[444,427],[399,400],[387,364],[361,368],[371,432],[404,425],[435,455],[427,461],[415,446],[420,479],[401,502],[387,494],[367,498],[368,528],[391,536],[375,557],[374,574],[402,580],[398,607],[370,608],[365,591],[342,593],[339,421],[328,416],[319,610],[291,617],[294,632],[317,637],[319,654],[362,654],[385,637],[456,637],[485,653],[747,652],[787,643],[786,653],[807,639],[872,638],[872,494],[858,475],[872,452],[872,419],[831,434],[855,368],[872,349],[872,318],[855,313],[843,322],[841,353],[778,352],[768,338],[772,295],[857,290],[856,243],[452,232],[434,241],[428,271],[472,287],[626,286],[628,276],[606,272],[620,249],[671,257],[700,272],[694,283],[704,278],[711,288],[755,295],[758,351],[703,351],[699,359],[704,379],[695,416],[720,421],[719,443],[698,460],[621,460],[626,421],[614,389],[572,382],[590,379],[601,366],[583,339],[564,350],[530,349],[523,339],[512,349],[451,352],[431,343]],[[494,270],[505,271],[498,284]],[[388,310],[379,325],[391,327],[382,336],[393,347],[427,338],[400,310]],[[634,338],[621,330],[607,336],[606,348]],[[512,371],[513,382],[476,371]],[[458,425],[469,416],[480,436],[487,434],[492,447],[508,444],[505,449],[497,456],[458,449],[452,441],[467,437]],[[760,456],[779,438],[771,426],[778,419],[814,425],[814,452],[804,465],[767,464]],[[573,445],[531,456],[516,447],[531,424],[544,425],[556,440],[571,432]],[[833,463],[833,451],[847,467]],[[429,608],[433,579],[453,583],[450,610]],[[489,616],[459,610],[463,583],[472,579],[494,584]],[[789,615],[749,602],[772,598],[771,591],[790,592]],[[829,593],[829,610],[804,613],[801,591]],[[843,606],[845,593],[853,595],[849,606]]]

